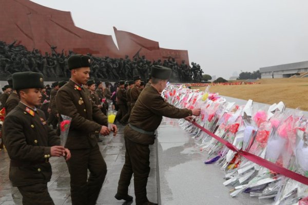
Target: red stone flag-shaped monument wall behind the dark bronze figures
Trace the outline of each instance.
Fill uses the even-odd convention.
[[[163,59],[169,56],[176,58],[178,63],[184,59],[188,64],[187,50],[160,48],[159,43],[115,27],[117,39],[115,46],[111,35],[86,31],[74,25],[70,12],[44,7],[29,0],[0,0],[0,40],[7,44],[17,40],[16,45],[23,45],[28,50],[33,48],[50,53],[51,46],[56,51],[68,54],[91,53],[94,56],[130,58],[140,49],[139,55],[149,60]]]

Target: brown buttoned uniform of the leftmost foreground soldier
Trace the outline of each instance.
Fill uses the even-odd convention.
[[[9,177],[23,204],[54,204],[47,190],[51,178],[50,147],[60,138],[47,126],[43,111],[18,103],[5,118],[3,139],[10,156]]]

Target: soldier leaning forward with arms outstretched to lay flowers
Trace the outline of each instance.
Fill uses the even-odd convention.
[[[130,199],[128,186],[131,176],[134,175],[134,193],[136,204],[156,204],[149,202],[146,196],[147,178],[150,172],[149,145],[154,144],[155,130],[159,127],[162,117],[185,118],[192,120],[192,115],[200,115],[200,109],[179,109],[161,97],[171,69],[154,66],[151,70],[152,84],[140,94],[133,107],[129,119],[129,125],[124,129],[125,139],[125,163],[120,175],[117,199]]]

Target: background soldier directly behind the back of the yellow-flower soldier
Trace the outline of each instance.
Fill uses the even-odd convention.
[[[50,100],[49,100],[49,106],[48,106],[48,112],[49,112],[49,117],[47,120],[47,125],[52,125],[53,129],[56,129],[56,125],[58,122],[58,112],[56,110],[55,106],[55,96],[57,91],[59,90],[59,82],[54,82],[52,84],[52,89],[50,91]]]

